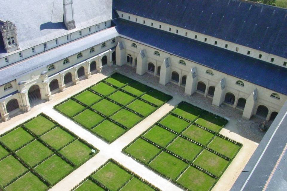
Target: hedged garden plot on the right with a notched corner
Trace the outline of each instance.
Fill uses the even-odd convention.
[[[123,152],[184,189],[208,191],[242,147],[219,134],[227,122],[181,102]]]

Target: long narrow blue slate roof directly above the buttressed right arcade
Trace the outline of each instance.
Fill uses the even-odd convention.
[[[286,68],[142,24],[114,22],[120,36],[287,95]]]

